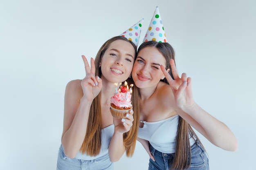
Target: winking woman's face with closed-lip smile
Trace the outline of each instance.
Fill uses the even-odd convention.
[[[166,60],[157,48],[148,46],[139,51],[132,69],[132,79],[138,88],[157,86],[163,76],[160,66]]]

